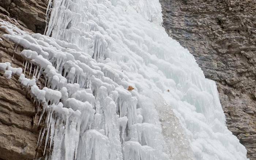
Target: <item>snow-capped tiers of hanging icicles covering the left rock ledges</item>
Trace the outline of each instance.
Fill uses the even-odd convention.
[[[10,62],[0,63],[0,69],[8,79],[18,75],[22,86],[29,89],[37,102],[39,123],[46,113],[45,127],[38,139],[41,145],[45,137],[44,154],[47,147],[52,151],[46,157],[54,160],[169,159],[162,144],[157,142],[161,139],[154,139],[161,135],[161,129],[142,123],[142,108],[136,108],[137,98],[113,81],[126,79],[125,75],[97,64],[86,53],[62,47],[71,44],[53,41],[41,34],[31,36],[15,28],[20,33],[17,34],[11,24],[1,23],[5,24],[1,28],[9,32],[3,37],[25,48],[19,53],[25,62],[23,73],[21,68],[12,68]],[[36,81],[42,75],[45,87],[39,89]],[[150,147],[150,143],[155,148]]]

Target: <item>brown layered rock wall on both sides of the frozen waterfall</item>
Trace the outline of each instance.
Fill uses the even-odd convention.
[[[186,47],[207,78],[215,80],[227,117],[227,127],[256,160],[256,2],[160,0],[163,25],[170,37]],[[0,19],[26,30],[44,33],[46,0],[0,0]],[[8,19],[13,18],[15,20]],[[0,37],[4,34],[0,30]],[[0,62],[22,66],[14,43],[0,41]],[[15,54],[12,59],[13,54]],[[38,139],[35,106],[17,77],[0,72],[0,159],[29,160],[36,156]]]

